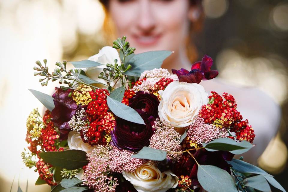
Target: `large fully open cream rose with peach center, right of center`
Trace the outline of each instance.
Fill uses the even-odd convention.
[[[208,94],[197,83],[173,81],[158,93],[161,95],[158,106],[160,119],[176,128],[191,125],[202,105],[208,103]]]

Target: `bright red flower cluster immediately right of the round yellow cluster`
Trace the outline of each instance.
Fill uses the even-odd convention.
[[[108,111],[106,95],[109,93],[106,89],[97,89],[95,92],[90,91],[89,93],[93,101],[88,104],[86,113],[91,122],[102,119],[106,115]]]

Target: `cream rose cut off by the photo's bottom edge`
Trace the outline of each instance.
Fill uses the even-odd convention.
[[[155,164],[148,162],[134,172],[123,172],[124,178],[139,192],[165,192],[178,185],[178,177],[170,170],[161,173]]]

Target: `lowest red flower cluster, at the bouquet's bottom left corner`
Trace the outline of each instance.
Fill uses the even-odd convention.
[[[55,182],[53,178],[53,174],[49,171],[49,168],[52,167],[51,165],[45,164],[45,162],[42,159],[40,159],[36,163],[36,167],[37,167],[39,176],[42,180],[44,180],[50,186],[57,185],[57,183]]]

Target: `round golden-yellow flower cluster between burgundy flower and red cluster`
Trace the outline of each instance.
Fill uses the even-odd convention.
[[[88,105],[88,103],[92,101],[89,91],[92,91],[92,88],[84,84],[81,84],[76,88],[72,98],[77,105]]]

